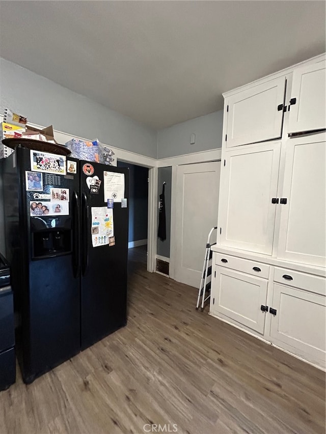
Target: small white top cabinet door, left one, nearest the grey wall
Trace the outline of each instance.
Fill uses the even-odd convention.
[[[228,99],[226,147],[282,135],[285,77],[239,92]]]

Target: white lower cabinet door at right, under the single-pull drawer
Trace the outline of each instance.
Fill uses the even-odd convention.
[[[271,342],[318,366],[325,366],[325,297],[274,284]]]

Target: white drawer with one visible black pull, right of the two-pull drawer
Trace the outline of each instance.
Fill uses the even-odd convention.
[[[274,280],[284,285],[295,286],[296,288],[310,291],[311,293],[326,295],[326,279],[324,277],[275,267]]]

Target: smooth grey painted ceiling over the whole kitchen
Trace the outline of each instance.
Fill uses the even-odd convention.
[[[323,1],[4,1],[0,55],[151,128],[325,51]]]

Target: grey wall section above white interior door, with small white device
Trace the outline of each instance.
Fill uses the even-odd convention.
[[[191,119],[157,132],[157,158],[222,148],[223,110]],[[196,143],[190,136],[196,134]]]

